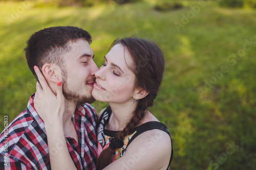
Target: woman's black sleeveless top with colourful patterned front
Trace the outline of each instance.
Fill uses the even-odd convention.
[[[112,110],[109,106],[108,108],[106,108],[103,111],[103,113],[101,114],[101,116],[99,118],[99,124],[98,124],[98,128],[97,128],[98,156],[104,149],[109,147],[110,140],[119,132],[119,131],[111,131],[111,130],[105,129],[106,125],[109,122],[111,114],[112,114]],[[123,154],[125,154],[126,148],[138,135],[140,135],[143,132],[146,132],[148,130],[153,130],[153,129],[162,130],[170,136],[170,133],[169,133],[167,127],[160,122],[147,122],[145,124],[142,124],[142,125],[136,127],[132,134],[125,136],[125,138],[123,140],[123,143],[124,143],[123,147],[115,150],[112,161],[117,160]],[[172,142],[171,137],[170,137],[170,140]],[[150,141],[148,142],[148,144],[150,144]],[[172,142],[172,150],[170,152],[171,152],[171,156],[170,156],[170,161],[169,161],[167,170],[169,169],[170,163],[172,162],[172,159],[173,159],[173,142]]]

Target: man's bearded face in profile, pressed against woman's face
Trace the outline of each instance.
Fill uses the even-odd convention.
[[[93,103],[93,84],[98,70],[93,61],[93,51],[86,40],[70,42],[70,52],[63,56],[62,83],[63,95],[75,104]]]

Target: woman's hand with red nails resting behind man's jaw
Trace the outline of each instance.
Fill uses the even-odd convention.
[[[45,77],[41,74],[40,69],[35,66],[34,70],[40,82],[36,82],[34,107],[38,115],[44,120],[45,124],[54,125],[56,120],[62,121],[62,116],[65,110],[65,98],[62,93],[62,83],[60,81],[56,83],[55,95],[48,86]]]

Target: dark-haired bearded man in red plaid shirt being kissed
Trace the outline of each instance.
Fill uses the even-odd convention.
[[[98,70],[93,61],[91,38],[87,31],[77,27],[52,27],[34,33],[25,48],[28,66],[37,81],[35,65],[55,94],[55,84],[63,83],[62,121],[68,150],[77,169],[95,169],[97,158],[97,114],[87,104],[95,101],[91,91]],[[9,124],[8,135],[6,131],[0,135],[1,169],[51,169],[45,124],[34,108],[34,95],[27,109]]]

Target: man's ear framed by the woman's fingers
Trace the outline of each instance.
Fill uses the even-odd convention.
[[[42,66],[42,74],[45,76],[46,80],[56,83],[59,81],[59,77],[56,70],[56,65],[46,63]]]

